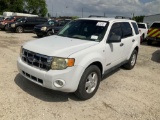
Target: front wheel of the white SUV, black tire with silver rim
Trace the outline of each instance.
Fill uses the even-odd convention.
[[[96,65],[89,66],[84,71],[81,77],[75,95],[82,100],[90,99],[97,92],[100,81],[101,81],[100,69]]]

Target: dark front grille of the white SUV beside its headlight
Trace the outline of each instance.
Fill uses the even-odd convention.
[[[26,49],[22,50],[22,60],[30,66],[50,70],[53,57],[41,55]]]

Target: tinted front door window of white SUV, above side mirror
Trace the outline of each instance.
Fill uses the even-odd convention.
[[[110,30],[108,39],[110,39],[112,37],[112,35],[117,35],[117,36],[121,36],[122,37],[121,23],[114,23],[112,25],[112,28]]]

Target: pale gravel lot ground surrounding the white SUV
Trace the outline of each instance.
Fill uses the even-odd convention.
[[[93,98],[79,101],[18,73],[20,46],[33,39],[0,31],[0,120],[160,120],[160,45],[141,45],[133,70],[116,69]]]

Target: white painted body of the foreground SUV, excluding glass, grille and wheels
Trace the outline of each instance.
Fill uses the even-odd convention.
[[[85,18],[83,18],[85,19]],[[83,20],[82,19],[82,20]],[[139,47],[140,36],[133,32],[133,37],[130,39],[122,39],[119,43],[107,43],[110,29],[115,22],[135,22],[125,19],[107,19],[107,18],[86,18],[87,20],[98,20],[109,22],[108,29],[101,42],[79,40],[75,38],[67,38],[61,36],[50,36],[34,41],[27,42],[22,47],[29,51],[43,54],[46,56],[56,56],[64,58],[74,58],[75,64],[73,67],[68,67],[64,70],[45,71],[31,65],[26,64],[21,57],[18,58],[18,70],[30,81],[39,84],[43,87],[63,92],[75,92],[78,88],[80,79],[85,69],[94,62],[102,64],[102,74],[106,70],[115,67],[117,64],[126,61],[131,56],[132,51]],[[132,26],[132,25],[131,25]],[[130,42],[128,42],[128,41]],[[132,42],[132,40],[135,40]],[[127,42],[126,42],[127,41]],[[121,47],[121,44],[124,44]],[[30,77],[23,74],[29,74],[36,78],[42,79],[43,84],[34,81]],[[56,80],[63,80],[64,86],[56,87]]]

